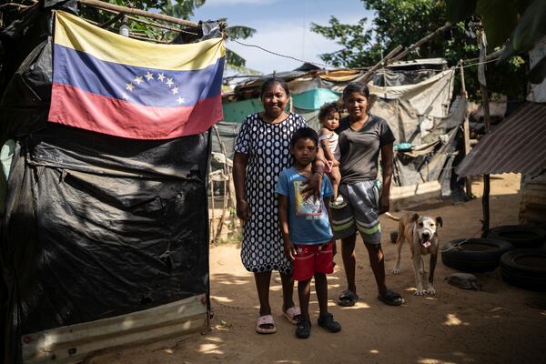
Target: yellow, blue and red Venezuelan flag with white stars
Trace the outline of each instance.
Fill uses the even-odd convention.
[[[167,139],[221,120],[221,38],[156,45],[56,13],[50,122],[112,136]]]

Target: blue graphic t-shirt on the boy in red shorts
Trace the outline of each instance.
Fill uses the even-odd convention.
[[[288,227],[292,242],[302,245],[323,244],[333,238],[323,198],[331,197],[334,190],[329,178],[324,176],[320,198],[310,196],[304,200],[300,191],[307,186],[306,179],[296,168],[289,167],[280,172],[275,192],[288,197]]]

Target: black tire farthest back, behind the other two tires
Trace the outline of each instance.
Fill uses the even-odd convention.
[[[503,225],[490,229],[487,238],[510,241],[514,248],[540,248],[546,241],[546,230],[524,225]]]

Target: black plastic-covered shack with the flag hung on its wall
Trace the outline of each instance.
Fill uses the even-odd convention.
[[[157,67],[149,74],[138,68],[142,74],[116,86],[140,56],[122,48],[138,45],[143,56],[153,56],[145,50],[156,45],[68,13],[61,23],[53,9],[77,13],[76,2],[48,1],[0,32],[2,48],[11,52],[0,88],[5,364],[81,361],[97,349],[208,323],[207,129],[221,117],[225,51],[218,27],[203,27],[197,45],[161,45],[195,56],[182,52],[178,61],[186,68],[166,68],[164,84],[164,68]],[[61,31],[66,36],[59,38]],[[119,54],[123,66],[110,59]],[[59,63],[63,55],[79,56]],[[187,71],[201,76],[202,88]],[[82,72],[85,82],[78,83]],[[190,86],[177,88],[177,98],[181,79]],[[172,97],[148,93],[159,86]],[[147,118],[150,110],[161,119]]]

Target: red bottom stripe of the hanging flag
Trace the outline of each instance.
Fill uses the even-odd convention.
[[[194,106],[139,106],[79,88],[53,84],[50,122],[110,136],[170,139],[203,133],[223,118],[222,99],[201,99]]]

